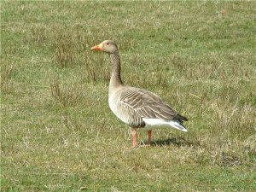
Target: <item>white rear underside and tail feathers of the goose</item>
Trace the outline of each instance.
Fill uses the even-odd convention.
[[[154,129],[158,127],[170,127],[172,126],[173,128],[187,132],[188,130],[186,127],[182,125],[182,123],[178,120],[170,120],[170,121],[165,121],[162,119],[143,119],[143,121],[146,123],[145,128],[146,129]]]

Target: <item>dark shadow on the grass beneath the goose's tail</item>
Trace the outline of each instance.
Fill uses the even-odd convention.
[[[150,143],[150,146],[169,146],[169,145],[174,145],[177,147],[185,147],[185,146],[191,147],[191,146],[199,145],[199,143],[192,143],[183,137],[172,137],[172,138],[167,138],[165,140],[153,140]]]

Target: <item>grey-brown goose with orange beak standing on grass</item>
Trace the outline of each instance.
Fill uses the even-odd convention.
[[[112,40],[105,40],[91,49],[103,51],[110,56],[113,67],[108,88],[109,108],[120,120],[131,127],[134,148],[137,147],[137,129],[148,131],[148,145],[151,143],[151,133],[154,128],[172,127],[187,131],[183,121],[188,119],[177,113],[160,96],[123,83],[117,44]]]

